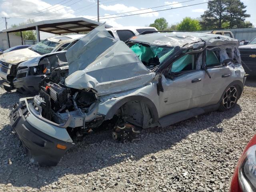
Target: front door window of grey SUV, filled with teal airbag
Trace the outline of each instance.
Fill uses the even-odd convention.
[[[190,70],[196,70],[196,62],[194,54],[186,54],[172,63],[171,72],[178,73]]]

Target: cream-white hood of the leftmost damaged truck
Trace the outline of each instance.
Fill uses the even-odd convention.
[[[34,58],[36,56],[40,56],[40,54],[28,48],[25,48],[25,49],[10,51],[0,55],[0,61],[16,65],[20,62]]]

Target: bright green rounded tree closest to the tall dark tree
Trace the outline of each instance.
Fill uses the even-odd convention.
[[[178,24],[179,31],[199,31],[201,30],[201,26],[197,19],[193,19],[191,17],[183,18],[182,22]]]

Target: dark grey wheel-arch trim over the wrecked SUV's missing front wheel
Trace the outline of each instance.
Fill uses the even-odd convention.
[[[157,122],[158,121],[158,111],[156,109],[155,104],[149,99],[146,98],[145,96],[140,96],[140,95],[134,95],[134,96],[128,96],[126,98],[123,98],[121,100],[119,100],[118,102],[116,102],[111,108],[110,110],[108,110],[108,113],[105,116],[105,120],[111,119],[114,114],[116,113],[116,111],[125,103],[129,102],[129,101],[142,101],[145,104],[148,105],[149,110],[152,114],[153,117],[153,122]]]

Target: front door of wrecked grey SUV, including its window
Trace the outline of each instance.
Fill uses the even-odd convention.
[[[160,117],[195,108],[200,103],[205,74],[197,55],[186,54],[173,62],[172,79],[163,77],[164,92],[160,92]],[[167,76],[167,75],[166,75]]]

